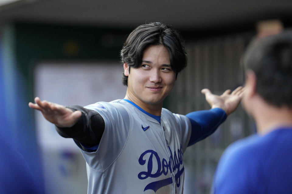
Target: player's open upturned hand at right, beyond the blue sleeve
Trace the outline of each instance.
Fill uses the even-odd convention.
[[[227,115],[230,115],[238,107],[244,90],[244,87],[239,86],[233,92],[228,89],[220,96],[212,94],[209,89],[202,89],[201,92],[205,95],[206,100],[212,109],[221,108],[226,112]]]

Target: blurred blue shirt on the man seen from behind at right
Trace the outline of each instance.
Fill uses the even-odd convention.
[[[292,127],[229,146],[218,164],[213,193],[292,193]]]

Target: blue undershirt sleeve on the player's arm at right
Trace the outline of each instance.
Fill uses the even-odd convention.
[[[225,121],[227,115],[223,109],[215,108],[190,112],[186,115],[191,122],[192,132],[188,146],[211,135]]]

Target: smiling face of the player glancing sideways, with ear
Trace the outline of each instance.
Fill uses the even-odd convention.
[[[143,52],[142,65],[130,73],[124,64],[128,76],[127,95],[140,107],[161,105],[172,90],[176,73],[170,66],[169,52],[163,45],[150,45]]]

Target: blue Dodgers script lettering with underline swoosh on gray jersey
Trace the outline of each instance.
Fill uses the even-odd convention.
[[[144,159],[144,156],[146,154],[150,154],[149,158],[148,158],[148,162],[147,162],[147,172],[142,171],[138,174],[138,178],[143,180],[143,179],[147,179],[148,177],[151,178],[157,178],[159,176],[162,175],[162,173],[164,175],[167,175],[168,170],[170,173],[175,172],[177,169],[177,172],[175,174],[175,180],[176,180],[176,186],[179,187],[180,186],[180,177],[182,175],[182,172],[184,171],[184,166],[182,166],[182,169],[179,169],[181,165],[183,165],[183,153],[182,153],[182,145],[180,145],[180,149],[176,151],[174,151],[174,154],[172,155],[172,151],[170,149],[170,147],[168,146],[169,152],[170,152],[170,157],[169,157],[169,162],[167,162],[166,159],[162,159],[162,161],[160,160],[160,157],[158,156],[158,153],[155,152],[154,150],[146,150],[145,152],[143,152],[141,154],[141,156],[139,157],[139,164],[140,165],[145,165],[146,164],[146,159]],[[153,156],[155,157],[153,159]],[[146,158],[146,156],[145,156]],[[153,160],[155,161],[155,164],[153,164]],[[157,166],[157,171],[152,173],[153,170],[153,165]],[[151,182],[149,183],[145,189],[152,189],[154,192],[156,192],[159,188],[163,187],[163,186],[167,186],[169,184],[172,183],[172,179],[171,178],[167,178],[167,179],[163,179],[163,180],[159,180],[159,181],[155,181],[155,182]]]

